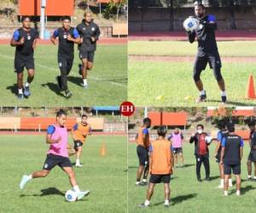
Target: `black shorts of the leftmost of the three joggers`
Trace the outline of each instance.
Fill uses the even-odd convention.
[[[22,57],[19,55],[15,55],[15,72],[23,72],[24,67],[26,67],[26,70],[35,69],[35,62],[33,56]]]

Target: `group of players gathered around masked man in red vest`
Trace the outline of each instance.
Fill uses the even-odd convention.
[[[160,126],[157,130],[158,137],[150,142],[148,128],[151,126],[150,118],[143,119],[143,125],[137,130],[137,156],[139,167],[137,169],[136,186],[147,186],[147,177],[150,174],[146,199],[139,207],[147,207],[154,193],[154,186],[163,182],[165,186],[165,207],[170,205],[170,181],[174,167],[177,167],[177,156],[180,155],[183,166],[183,134],[175,129],[170,137],[166,138],[166,126]],[[247,158],[247,180],[256,181],[256,129],[255,123],[249,122],[250,129],[250,153]],[[220,185],[224,189],[224,196],[228,196],[228,188],[232,187],[231,171],[236,176],[236,195],[241,195],[241,158],[243,155],[244,141],[236,135],[235,125],[218,122],[217,146],[215,158],[219,165]],[[196,176],[201,179],[201,164],[206,170],[205,181],[211,181],[209,149],[212,137],[204,131],[202,124],[197,124],[196,132],[190,136],[189,143],[195,144]],[[174,160],[175,158],[175,160]],[[252,164],[254,164],[254,176],[252,176]],[[141,177],[143,176],[143,181]]]

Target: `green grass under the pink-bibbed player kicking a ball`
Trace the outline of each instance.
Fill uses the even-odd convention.
[[[92,135],[82,153],[82,168],[74,168],[79,187],[88,197],[68,203],[64,194],[71,188],[58,167],[49,176],[34,179],[20,191],[20,178],[41,170],[48,146],[44,135],[1,135],[0,212],[126,212],[127,143],[125,136]],[[71,142],[71,139],[70,139]],[[100,156],[102,142],[107,155]],[[71,157],[74,162],[74,157]]]

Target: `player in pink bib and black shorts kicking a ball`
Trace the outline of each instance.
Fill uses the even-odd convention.
[[[90,191],[80,191],[72,164],[68,158],[68,132],[67,128],[65,127],[66,120],[66,112],[60,110],[56,113],[56,123],[49,125],[47,129],[46,143],[49,144],[49,151],[44,162],[43,170],[32,172],[32,174],[29,176],[23,176],[20,181],[20,189],[23,189],[27,181],[30,181],[33,178],[48,176],[50,170],[58,165],[67,173],[70,184],[73,187],[73,191],[78,193],[78,199],[82,199],[84,196],[90,193]]]

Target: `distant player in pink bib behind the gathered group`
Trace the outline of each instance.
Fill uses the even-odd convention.
[[[179,156],[181,161],[181,167],[183,167],[183,133],[178,128],[175,128],[172,135],[168,138],[172,142],[172,153],[174,155],[174,166],[178,167],[177,157]]]

